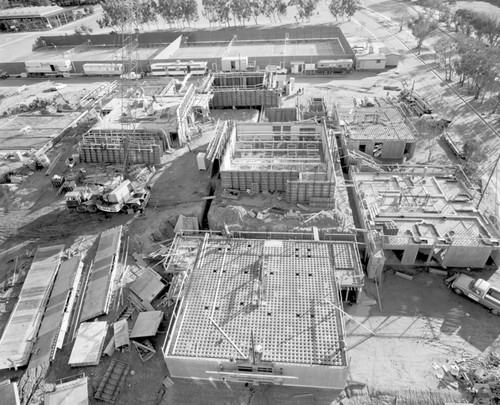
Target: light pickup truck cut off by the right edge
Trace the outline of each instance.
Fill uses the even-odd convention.
[[[458,295],[464,295],[488,308],[493,315],[500,315],[500,288],[482,278],[466,274],[455,274],[445,280],[448,288]]]

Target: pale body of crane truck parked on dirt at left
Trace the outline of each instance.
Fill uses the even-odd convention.
[[[97,209],[104,212],[142,211],[146,208],[150,195],[149,191],[134,187],[130,180],[124,180],[112,191],[101,195]]]

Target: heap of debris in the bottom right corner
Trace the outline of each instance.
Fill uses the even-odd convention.
[[[471,393],[474,404],[500,404],[500,356],[488,353],[439,366],[432,365],[436,377],[448,389],[462,387]]]

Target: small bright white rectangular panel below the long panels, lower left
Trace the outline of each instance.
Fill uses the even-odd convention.
[[[71,367],[99,364],[108,325],[106,322],[84,322],[78,328],[68,364]]]

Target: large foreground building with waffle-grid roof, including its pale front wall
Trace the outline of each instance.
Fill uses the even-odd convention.
[[[177,235],[166,263],[174,273],[163,345],[170,375],[345,387],[339,273],[361,269],[355,251],[353,242]]]

